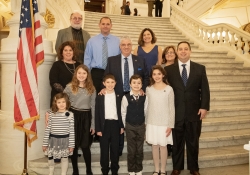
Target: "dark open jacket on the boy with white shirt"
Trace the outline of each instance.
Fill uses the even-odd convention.
[[[121,99],[122,96],[116,94],[116,109],[120,128],[124,128],[121,116]],[[105,125],[105,95],[96,96],[95,104],[95,131],[103,132]]]

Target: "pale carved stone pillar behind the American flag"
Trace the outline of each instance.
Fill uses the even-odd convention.
[[[45,9],[45,0],[40,0]],[[3,153],[0,159],[0,170],[2,174],[20,174],[23,170],[24,159],[24,132],[15,130],[14,123],[14,84],[16,70],[16,52],[18,45],[18,30],[20,18],[20,0],[11,1],[11,10],[14,16],[7,22],[10,27],[9,36],[1,40],[2,50],[0,52],[1,64],[1,111],[0,111],[0,150]],[[49,70],[55,60],[52,53],[52,43],[45,38],[47,24],[41,16],[41,26],[43,33],[43,45],[45,60],[38,67],[38,88],[40,93],[40,120],[37,121],[38,139],[35,140],[31,148],[28,148],[28,160],[43,157],[41,149],[44,132],[44,113],[49,108],[50,85]]]

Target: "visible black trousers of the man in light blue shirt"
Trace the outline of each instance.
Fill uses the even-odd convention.
[[[92,68],[91,69],[91,77],[92,77],[93,84],[95,86],[97,94],[103,88],[103,86],[102,86],[102,79],[103,79],[104,71],[105,71],[104,69],[97,69],[97,68]]]

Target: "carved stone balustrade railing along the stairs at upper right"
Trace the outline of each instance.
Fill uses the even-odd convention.
[[[188,14],[176,1],[171,1],[171,23],[191,41],[210,50],[228,50],[250,66],[250,34],[230,24],[209,26]]]

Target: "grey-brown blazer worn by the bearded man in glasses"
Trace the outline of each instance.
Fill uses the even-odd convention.
[[[86,30],[82,30],[82,36],[83,36],[83,42],[84,42],[84,48],[83,51],[85,51],[86,45],[88,40],[90,39],[90,34]],[[68,27],[65,29],[61,29],[58,31],[57,38],[56,38],[56,45],[55,49],[56,52],[58,52],[58,49],[60,45],[66,41],[73,41],[73,35],[72,35],[72,27]]]

